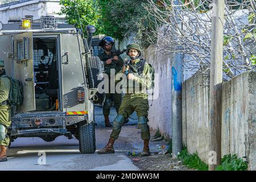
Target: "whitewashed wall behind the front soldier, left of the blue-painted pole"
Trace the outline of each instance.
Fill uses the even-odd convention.
[[[172,116],[171,116],[171,63],[173,55],[164,55],[149,47],[143,50],[144,59],[155,68],[155,96],[148,113],[148,125],[166,138],[172,137]],[[152,100],[148,100],[151,105]]]

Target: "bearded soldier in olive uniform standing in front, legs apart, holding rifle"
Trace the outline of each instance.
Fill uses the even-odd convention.
[[[145,63],[142,74],[139,75],[139,68],[141,68],[141,48],[138,44],[129,44],[127,46],[127,55],[130,56],[130,72],[127,74],[127,82],[125,96],[123,96],[122,104],[119,108],[118,115],[113,122],[113,130],[110,134],[110,139],[106,146],[98,151],[98,154],[111,154],[114,153],[114,141],[118,138],[121,127],[125,122],[125,118],[133,114],[134,111],[138,115],[138,127],[141,129],[141,138],[144,140],[144,147],[141,156],[150,155],[150,149],[148,146],[150,140],[150,129],[147,125],[148,119],[148,95],[146,93],[146,88],[150,87],[152,84],[152,78],[150,75],[150,66]],[[123,75],[126,73],[126,66],[122,68],[119,72]],[[119,74],[118,73],[118,74]],[[118,75],[116,76],[118,80]],[[125,79],[124,79],[125,80]],[[124,86],[124,85],[123,85]]]

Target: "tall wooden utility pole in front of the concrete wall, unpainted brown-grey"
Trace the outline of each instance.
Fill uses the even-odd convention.
[[[213,0],[212,42],[210,52],[210,100],[209,100],[209,171],[221,162],[221,102],[223,20],[225,0]]]

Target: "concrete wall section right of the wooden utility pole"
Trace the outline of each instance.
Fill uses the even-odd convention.
[[[256,72],[245,72],[223,84],[222,155],[246,157],[256,170]]]

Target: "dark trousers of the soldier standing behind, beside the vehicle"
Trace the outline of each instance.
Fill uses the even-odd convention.
[[[110,85],[109,85],[110,86]],[[114,101],[115,110],[118,113],[119,107],[122,102],[122,94],[120,93],[105,93],[105,102],[103,104],[103,115],[109,115],[112,102]]]

